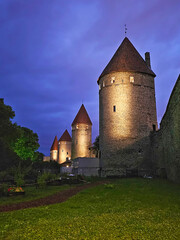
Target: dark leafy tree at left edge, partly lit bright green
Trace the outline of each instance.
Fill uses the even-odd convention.
[[[15,112],[0,99],[0,169],[5,170],[13,165],[22,166],[23,160],[38,161],[42,154],[39,148],[38,135],[32,130],[12,123]],[[29,162],[29,161],[28,161]]]

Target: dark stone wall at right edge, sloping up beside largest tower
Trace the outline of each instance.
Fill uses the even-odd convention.
[[[172,91],[160,130],[151,139],[156,174],[180,182],[180,77]]]

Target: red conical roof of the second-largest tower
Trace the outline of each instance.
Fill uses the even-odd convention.
[[[81,108],[79,109],[79,112],[77,113],[74,121],[72,122],[72,126],[78,123],[85,123],[88,125],[92,125],[91,119],[84,107],[84,105],[82,104]]]

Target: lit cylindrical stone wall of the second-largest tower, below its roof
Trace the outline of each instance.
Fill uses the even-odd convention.
[[[72,126],[72,159],[90,157],[91,125],[76,124]]]

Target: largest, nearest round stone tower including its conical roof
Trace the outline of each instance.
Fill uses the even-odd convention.
[[[150,54],[144,60],[126,37],[98,79],[102,174],[123,175],[157,128]]]

